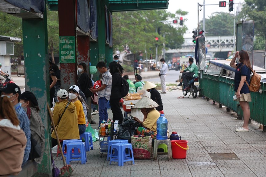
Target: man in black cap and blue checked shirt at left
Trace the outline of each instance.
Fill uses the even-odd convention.
[[[30,140],[30,127],[29,127],[29,118],[23,108],[21,107],[21,104],[19,103],[19,97],[21,95],[20,88],[15,83],[7,84],[4,88],[2,88],[2,96],[9,97],[9,100],[13,104],[17,118],[19,120],[19,126],[24,131],[25,136],[27,138],[27,145],[25,147],[24,157],[22,165],[25,164],[29,159],[29,153],[31,149],[31,140]]]

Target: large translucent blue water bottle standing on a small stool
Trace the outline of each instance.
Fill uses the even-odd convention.
[[[166,140],[167,139],[167,119],[164,114],[161,114],[157,119],[157,135],[156,139],[158,140]]]

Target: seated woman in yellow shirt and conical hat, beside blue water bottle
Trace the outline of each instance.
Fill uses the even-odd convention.
[[[154,107],[159,105],[151,100],[147,96],[143,96],[132,108],[140,108],[140,111],[144,115],[143,121],[134,117],[142,127],[138,127],[137,134],[142,136],[151,136],[152,139],[156,139],[157,134],[157,119],[160,117],[159,111]]]

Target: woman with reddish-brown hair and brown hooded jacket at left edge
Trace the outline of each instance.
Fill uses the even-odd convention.
[[[26,136],[7,96],[0,97],[0,176],[17,175],[26,147]]]

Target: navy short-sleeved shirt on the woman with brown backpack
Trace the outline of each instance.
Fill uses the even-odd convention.
[[[238,89],[238,86],[240,84],[240,81],[241,81],[241,76],[246,76],[246,80],[247,82],[250,84],[250,69],[248,66],[246,65],[243,65],[243,63],[237,63],[237,67],[236,67],[236,70],[235,70],[235,91],[237,92],[237,89]],[[242,66],[242,67],[241,67]],[[243,87],[241,88],[240,90],[240,93],[250,93],[249,91],[249,87],[248,85],[246,84],[246,82],[244,82],[244,85]]]

